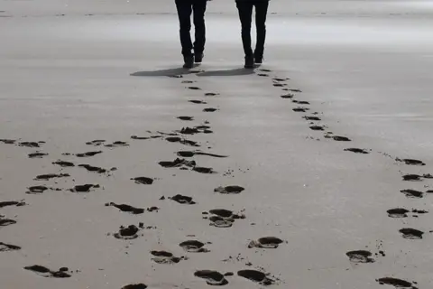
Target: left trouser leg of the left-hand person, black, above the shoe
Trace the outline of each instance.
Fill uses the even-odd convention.
[[[192,42],[191,42],[191,14],[192,4],[185,0],[176,0],[176,8],[178,9],[179,23],[180,23],[180,44],[182,45],[183,56],[191,55]]]

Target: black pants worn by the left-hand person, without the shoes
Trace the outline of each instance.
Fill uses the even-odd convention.
[[[182,54],[184,56],[195,53],[202,53],[205,50],[206,42],[206,25],[205,12],[206,0],[176,0],[180,23],[180,44],[182,45]],[[191,41],[191,14],[194,11],[194,26],[196,29],[196,39],[194,46]]]

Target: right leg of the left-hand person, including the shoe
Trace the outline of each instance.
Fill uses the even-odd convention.
[[[196,40],[194,42],[194,55],[196,62],[201,62],[203,58],[203,51],[205,51],[206,43],[206,23],[205,23],[205,12],[206,12],[207,1],[195,0],[192,5],[194,11],[194,26],[196,30]]]

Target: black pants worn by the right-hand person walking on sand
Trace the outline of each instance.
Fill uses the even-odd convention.
[[[239,19],[242,25],[242,42],[245,56],[254,55],[263,57],[264,41],[266,39],[266,15],[268,14],[269,1],[240,1],[236,2],[239,11]],[[255,27],[257,30],[257,42],[255,51],[251,48],[251,22],[255,6]]]

